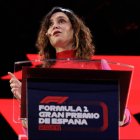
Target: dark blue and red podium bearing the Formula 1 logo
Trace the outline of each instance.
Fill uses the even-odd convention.
[[[119,139],[132,67],[108,62],[111,70],[102,70],[101,60],[60,60],[42,68],[36,62],[16,63],[22,65],[20,118],[28,119],[30,140]]]

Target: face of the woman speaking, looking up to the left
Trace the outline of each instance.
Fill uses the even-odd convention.
[[[51,16],[46,34],[56,52],[72,49],[73,29],[69,18],[63,12],[57,12]]]

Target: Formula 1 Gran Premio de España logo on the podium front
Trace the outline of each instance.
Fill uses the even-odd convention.
[[[40,101],[38,116],[40,131],[104,131],[108,128],[108,108],[103,102],[69,102],[68,96],[46,96]]]

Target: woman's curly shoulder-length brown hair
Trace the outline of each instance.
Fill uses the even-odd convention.
[[[50,18],[56,12],[63,12],[69,18],[73,34],[73,49],[75,50],[75,57],[77,59],[90,59],[91,55],[95,52],[95,47],[92,42],[92,34],[89,28],[84,24],[83,20],[80,19],[72,10],[65,9],[62,7],[54,7],[52,10],[43,18],[41,22],[40,31],[38,33],[36,46],[39,49],[39,55],[42,59],[55,59],[56,51],[51,46],[49,38],[46,35],[49,28]]]

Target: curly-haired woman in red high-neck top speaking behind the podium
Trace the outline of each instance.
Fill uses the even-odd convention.
[[[61,7],[54,7],[42,20],[36,46],[39,49],[41,60],[46,61],[43,67],[79,67],[80,64],[62,65],[58,59],[92,60],[94,59],[95,46],[89,28],[71,10]],[[82,63],[84,64],[84,63]],[[110,70],[106,60],[101,60],[101,65],[86,65],[86,68]],[[10,86],[14,96],[21,99],[21,82],[11,73]],[[130,122],[130,113],[126,109],[124,121],[120,126]],[[27,123],[23,121],[23,126]]]

